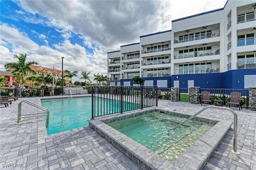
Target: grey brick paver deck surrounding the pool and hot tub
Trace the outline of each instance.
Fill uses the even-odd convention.
[[[7,108],[0,105],[0,169],[140,169],[90,127],[44,136],[40,119],[29,118],[17,124],[18,103],[22,100],[36,104],[40,102],[37,97],[33,97],[20,98]],[[159,109],[190,115],[207,106],[166,100],[159,100],[158,105]],[[234,134],[231,128],[204,170],[256,169],[256,111],[232,109],[238,114],[237,148],[240,155],[230,152]],[[22,113],[37,112],[38,109],[22,103]],[[205,111],[200,115],[222,120],[234,119],[228,111],[218,109]]]

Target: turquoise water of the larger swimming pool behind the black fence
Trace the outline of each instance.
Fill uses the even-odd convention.
[[[111,105],[111,107],[105,107],[104,110],[99,110],[99,113],[107,111],[116,113],[120,111],[120,101],[112,99],[99,99],[99,103],[96,103],[95,107],[98,109],[98,105]],[[113,105],[112,105],[113,103]],[[73,99],[44,99],[41,100],[42,107],[49,110],[49,125],[46,128],[47,134],[54,134],[71,130],[74,128],[80,128],[88,126],[88,119],[92,118],[92,98],[91,97],[76,97]],[[124,103],[125,109],[135,107],[132,103]],[[102,107],[100,107],[101,109]],[[136,108],[139,108],[136,106]]]

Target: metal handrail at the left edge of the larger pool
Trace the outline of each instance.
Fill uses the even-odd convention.
[[[17,123],[20,122],[20,119],[21,118],[28,118],[28,117],[21,117],[21,103],[24,102],[24,103],[28,103],[29,105],[32,105],[38,109],[41,109],[43,111],[46,111],[46,115],[45,113],[34,113],[34,114],[28,114],[28,115],[39,115],[39,116],[29,116],[29,117],[40,117],[40,116],[46,116],[46,127],[48,127],[48,124],[49,124],[49,111],[48,109],[42,107],[42,106],[39,106],[39,105],[36,105],[35,103],[32,103],[30,101],[27,101],[27,100],[23,100],[19,103],[18,105],[18,120],[17,120]],[[40,114],[44,114],[44,115],[40,115]]]

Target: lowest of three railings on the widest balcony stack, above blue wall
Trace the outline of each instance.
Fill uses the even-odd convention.
[[[174,69],[174,74],[220,73],[220,67]]]

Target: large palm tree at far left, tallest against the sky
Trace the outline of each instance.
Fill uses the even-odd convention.
[[[21,83],[22,83],[22,87],[23,87],[23,83],[24,83],[24,76],[27,73],[32,73],[32,74],[36,74],[36,72],[31,69],[31,65],[38,65],[37,61],[27,61],[27,53],[22,54],[20,53],[20,55],[14,55],[14,58],[18,59],[17,62],[10,62],[10,63],[5,63],[4,64],[4,68],[6,70],[8,69],[13,69],[12,73],[20,73],[21,76]]]

